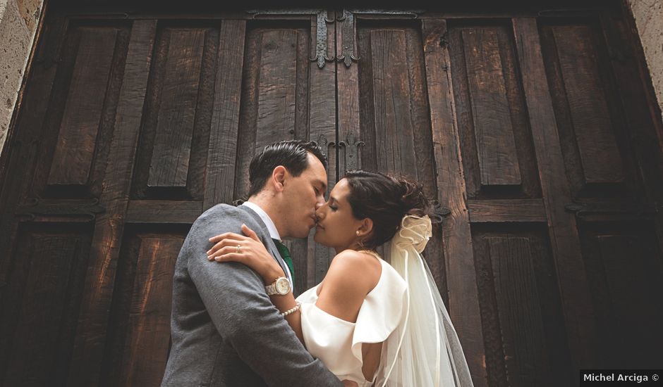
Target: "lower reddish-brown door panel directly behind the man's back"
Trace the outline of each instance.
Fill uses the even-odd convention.
[[[121,386],[158,386],[170,346],[173,272],[183,239],[140,238],[133,293],[128,308]]]

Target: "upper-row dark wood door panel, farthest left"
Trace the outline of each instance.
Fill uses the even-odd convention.
[[[99,197],[129,32],[123,22],[67,24],[29,196]]]

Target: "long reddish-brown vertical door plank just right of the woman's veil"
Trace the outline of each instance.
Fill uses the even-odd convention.
[[[486,387],[477,278],[449,74],[451,61],[448,47],[440,44],[446,34],[446,20],[423,20],[422,23],[438,201],[451,211],[442,223],[449,314],[463,345],[474,386]]]

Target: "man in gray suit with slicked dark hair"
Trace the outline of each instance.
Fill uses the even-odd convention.
[[[305,238],[324,203],[326,160],[312,143],[281,141],[251,160],[248,202],[219,204],[193,223],[177,258],[172,346],[162,386],[342,386],[305,350],[262,278],[237,262],[207,260],[209,238],[253,229],[286,277],[274,241]]]

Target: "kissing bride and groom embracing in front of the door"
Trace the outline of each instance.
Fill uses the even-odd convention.
[[[422,258],[434,206],[403,177],[351,171],[327,191],[317,146],[281,141],[250,163],[248,201],[215,205],[177,258],[162,386],[473,386]],[[336,256],[293,296],[284,238]],[[390,263],[376,251],[391,242]]]

